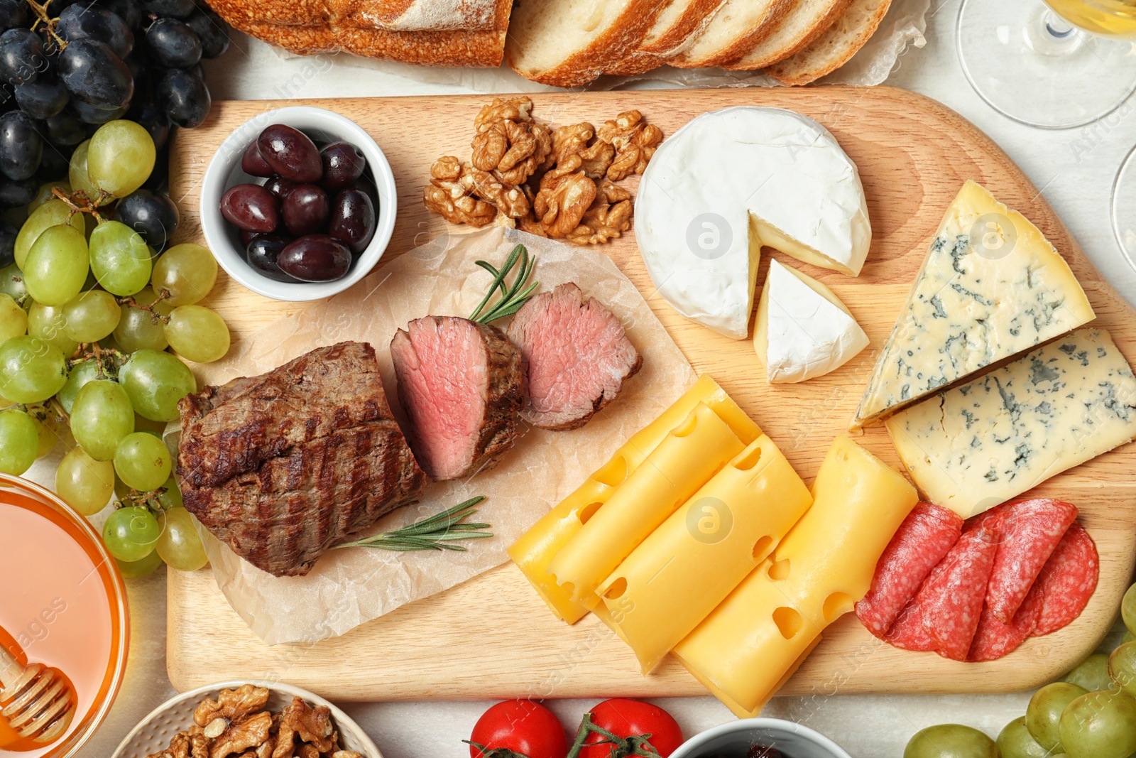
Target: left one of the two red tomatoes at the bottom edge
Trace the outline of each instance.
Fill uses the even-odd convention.
[[[506,748],[527,758],[565,758],[568,740],[565,727],[551,710],[533,700],[499,702],[477,719],[469,738],[485,752],[469,745],[470,758],[481,758],[494,748]]]

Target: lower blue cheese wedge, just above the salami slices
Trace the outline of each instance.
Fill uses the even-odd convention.
[[[927,498],[969,518],[1136,439],[1136,377],[1080,330],[885,424]]]

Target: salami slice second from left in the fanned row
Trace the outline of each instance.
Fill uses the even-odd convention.
[[[966,660],[970,652],[996,551],[991,530],[964,532],[916,593],[924,628],[944,658]]]

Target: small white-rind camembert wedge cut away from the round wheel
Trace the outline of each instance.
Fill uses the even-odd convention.
[[[832,290],[776,260],[769,263],[753,332],[767,380],[822,376],[867,347],[868,335]]]

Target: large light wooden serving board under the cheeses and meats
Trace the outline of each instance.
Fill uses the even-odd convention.
[[[709,372],[811,481],[835,434],[852,418],[876,352],[887,339],[927,244],[967,178],[1021,210],[1072,266],[1130,363],[1136,314],[1101,280],[1034,185],[988,138],[950,109],[891,88],[747,89],[534,94],[534,114],[553,124],[600,122],[637,108],[673,134],[699,114],[738,105],[790,108],[827,126],[860,167],[872,224],[871,255],[858,278],[793,261],[829,285],[871,338],[849,365],[803,384],[770,385],[749,340],[733,341],[683,319],[654,293],[634,234],[601,248],[640,288],[700,373]],[[426,213],[421,188],[431,163],[467,156],[471,123],[487,97],[312,100],[366,128],[386,152],[400,208],[387,256],[445,225]],[[198,240],[198,185],[220,141],[253,115],[283,102],[219,102],[194,131],[179,131],[170,189],[183,213],[179,236]],[[760,282],[768,268],[766,250]],[[785,258],[782,258],[786,260]],[[210,305],[234,336],[248,339],[301,308],[245,291],[222,276]],[[645,356],[651,360],[651,356]],[[900,467],[883,427],[860,442]],[[571,444],[571,438],[565,438]],[[1009,692],[1039,685],[1072,667],[1105,634],[1128,586],[1136,547],[1136,445],[1097,458],[1036,490],[1080,508],[1096,540],[1101,580],[1088,608],[1058,633],[1027,641],[986,664],[950,661],[891,648],[849,614],[783,694],[835,692]],[[630,650],[588,616],[575,626],[554,619],[511,564],[415,602],[348,634],[315,644],[268,647],[227,605],[208,569],[169,572],[169,677],[179,690],[233,678],[281,678],[337,700],[506,697],[691,695],[704,690],[674,659],[642,676]]]

